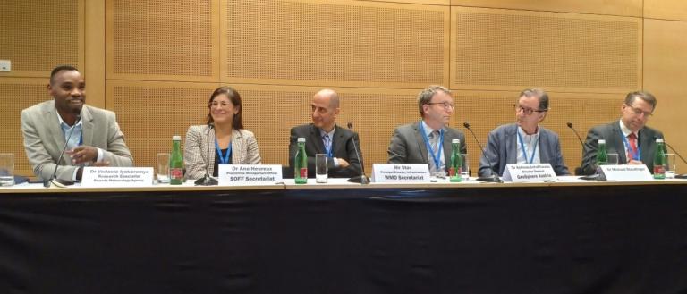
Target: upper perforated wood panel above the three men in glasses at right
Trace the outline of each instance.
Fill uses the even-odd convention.
[[[640,19],[451,9],[452,88],[624,93],[641,86]]]

